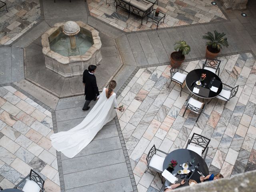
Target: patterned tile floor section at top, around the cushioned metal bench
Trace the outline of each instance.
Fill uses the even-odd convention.
[[[107,1],[110,4],[106,4],[106,0],[88,0],[90,14],[125,32],[156,28],[155,23],[146,23],[146,18],[141,24],[138,16],[130,15],[128,18],[128,13],[120,8],[116,12],[114,0]],[[166,14],[164,23],[159,28],[226,20],[218,6],[213,6],[211,2],[212,0],[159,0],[154,8],[159,8]]]

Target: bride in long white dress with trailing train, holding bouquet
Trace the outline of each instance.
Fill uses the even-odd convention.
[[[98,131],[116,116],[116,81],[112,80],[108,88],[104,88],[99,100],[84,120],[68,131],[58,132],[50,136],[52,146],[65,156],[72,158],[85,148]]]

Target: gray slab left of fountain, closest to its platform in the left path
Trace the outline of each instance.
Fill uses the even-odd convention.
[[[24,79],[23,49],[12,47],[12,82]]]

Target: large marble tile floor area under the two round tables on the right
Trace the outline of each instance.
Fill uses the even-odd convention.
[[[239,85],[236,97],[223,110],[224,102],[213,99],[201,114],[187,110],[187,88],[170,82],[170,66],[141,68],[124,88],[118,102],[126,110],[118,118],[139,192],[158,191],[158,174],[146,170],[146,155],[153,146],[171,152],[184,148],[188,138],[198,133],[210,138],[206,157],[209,171],[225,178],[256,169],[256,62],[252,54],[221,57],[222,82]],[[182,64],[186,71],[202,68],[204,61]]]

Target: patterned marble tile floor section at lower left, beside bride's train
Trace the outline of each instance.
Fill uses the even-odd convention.
[[[45,179],[46,192],[60,192],[56,150],[50,142],[52,114],[13,88],[0,87],[0,186],[13,188],[30,169]]]

